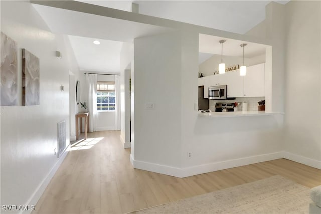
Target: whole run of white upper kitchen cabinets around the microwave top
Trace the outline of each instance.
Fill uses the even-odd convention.
[[[227,85],[227,97],[264,97],[264,65],[248,66],[246,76],[235,70],[199,78],[199,86],[204,85],[204,98],[208,98],[208,88],[217,85]]]

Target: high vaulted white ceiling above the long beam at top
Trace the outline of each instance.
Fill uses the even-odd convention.
[[[104,1],[77,0],[104,7],[131,11],[131,3],[139,5],[139,13],[209,28],[244,34],[265,19],[265,6],[270,0],[232,1]],[[286,4],[289,0],[274,1]]]

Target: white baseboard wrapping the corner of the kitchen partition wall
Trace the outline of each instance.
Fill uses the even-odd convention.
[[[130,156],[130,161],[132,162],[134,168],[137,168],[137,169],[142,169],[142,170],[147,170],[147,171],[152,171],[156,173],[183,178],[183,177],[189,177],[197,174],[218,171],[222,169],[228,169],[228,168],[233,168],[238,166],[244,166],[244,165],[260,163],[264,161],[280,159],[282,158],[282,154],[283,154],[282,152],[275,152],[275,153],[256,155],[256,156],[227,160],[227,161],[214,162],[210,164],[197,165],[197,166],[187,167],[183,169],[173,167],[173,166],[166,166],[161,164],[154,164],[154,163],[134,160],[132,159],[132,156]]]

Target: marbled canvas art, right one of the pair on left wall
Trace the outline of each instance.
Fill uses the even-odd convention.
[[[40,104],[39,58],[22,49],[22,104]]]

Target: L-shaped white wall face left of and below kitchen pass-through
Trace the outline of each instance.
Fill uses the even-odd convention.
[[[185,34],[186,35],[186,34]],[[278,158],[282,116],[203,118],[197,102],[198,37],[182,43],[182,168],[183,176]],[[194,86],[194,87],[191,87]],[[192,158],[187,153],[192,152]]]

